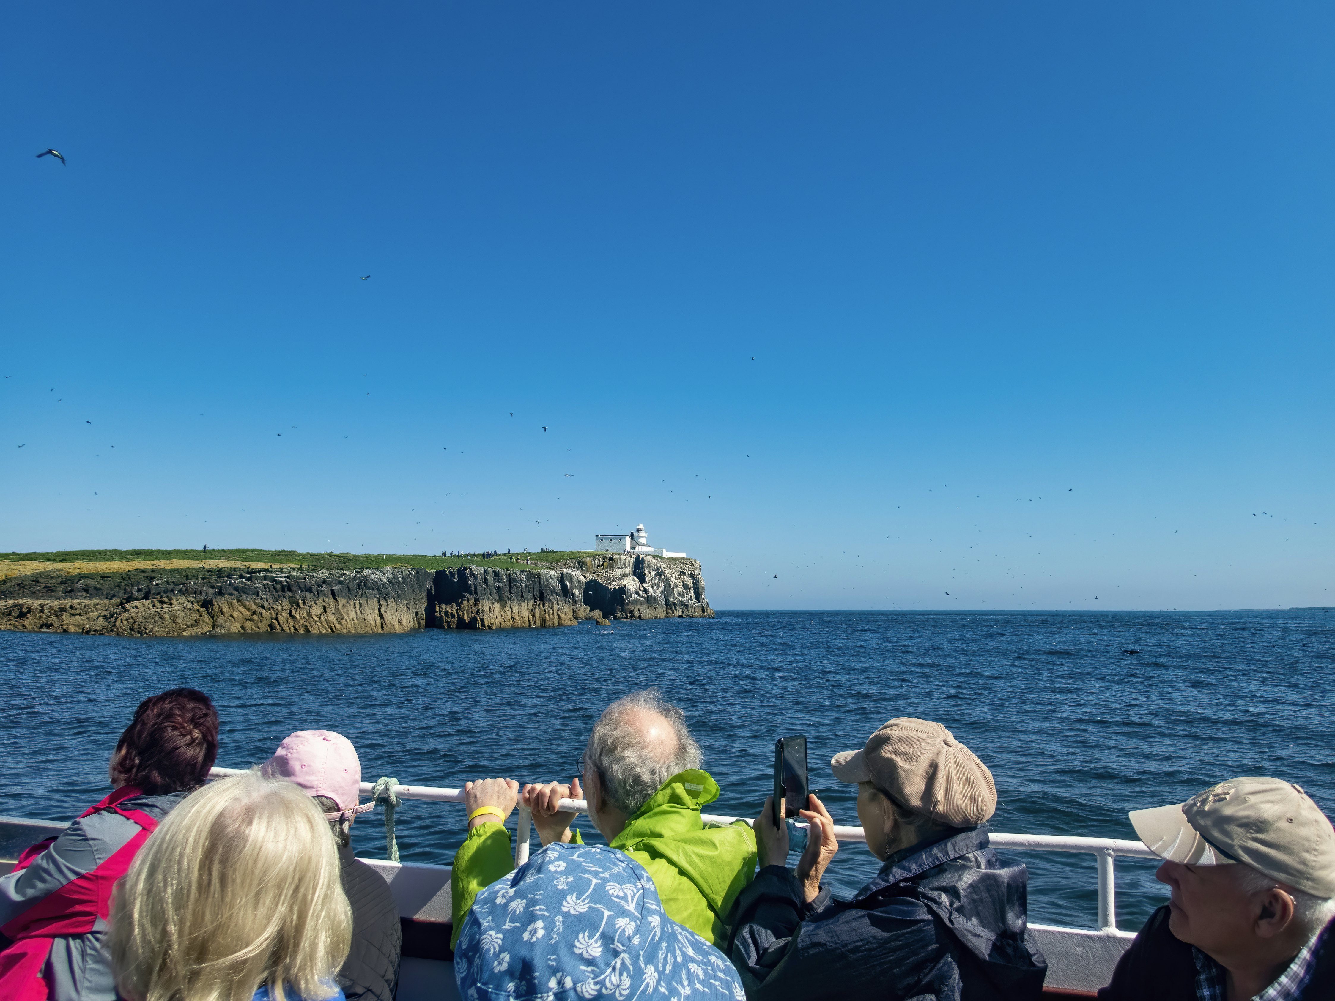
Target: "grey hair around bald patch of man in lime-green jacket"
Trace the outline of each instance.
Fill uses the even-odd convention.
[[[641,726],[630,722],[635,710],[657,713],[672,727],[674,746],[666,749],[645,745]],[[700,745],[686,729],[686,717],[658,689],[631,691],[607,706],[589,734],[585,749],[586,767],[598,769],[607,802],[634,815],[653,798],[669,778],[705,763]]]

